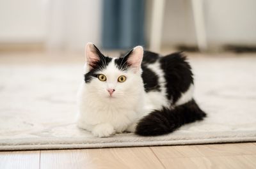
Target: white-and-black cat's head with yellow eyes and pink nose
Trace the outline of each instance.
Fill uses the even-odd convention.
[[[138,46],[120,58],[103,55],[92,43],[85,49],[87,91],[99,98],[127,98],[141,92],[143,48]],[[142,89],[143,90],[143,89]]]

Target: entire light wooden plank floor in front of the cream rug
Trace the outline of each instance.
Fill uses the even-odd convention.
[[[256,143],[9,151],[0,168],[256,168]]]

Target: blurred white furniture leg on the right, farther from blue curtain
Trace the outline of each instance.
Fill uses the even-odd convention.
[[[207,48],[207,37],[205,32],[204,23],[204,9],[203,0],[192,0],[193,17],[196,30],[196,41],[200,52],[206,51]]]

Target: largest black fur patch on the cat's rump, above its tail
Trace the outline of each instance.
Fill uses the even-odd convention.
[[[186,57],[180,52],[159,59],[166,79],[167,98],[174,104],[193,84],[193,73]]]

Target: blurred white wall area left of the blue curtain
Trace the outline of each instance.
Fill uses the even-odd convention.
[[[0,1],[0,43],[42,42],[52,49],[100,44],[102,0]]]

